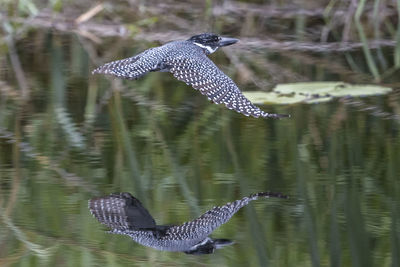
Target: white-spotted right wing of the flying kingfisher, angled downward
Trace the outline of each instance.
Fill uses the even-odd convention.
[[[229,109],[255,118],[288,117],[284,114],[267,113],[256,107],[205,54],[193,58],[170,58],[165,64],[178,80],[199,90],[216,104],[224,103]]]

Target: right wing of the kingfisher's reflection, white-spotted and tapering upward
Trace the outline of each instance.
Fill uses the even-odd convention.
[[[205,212],[197,219],[186,222],[179,226],[173,226],[172,228],[180,227],[182,229],[186,229],[186,231],[188,232],[201,233],[201,238],[205,238],[208,235],[210,235],[216,228],[220,227],[221,225],[229,221],[229,219],[238,210],[249,204],[250,201],[257,200],[258,198],[261,197],[288,198],[287,196],[281,193],[261,192],[252,194],[248,197],[244,197],[242,199],[229,202],[223,206],[214,207],[211,210]],[[201,229],[201,231],[199,231],[199,229]]]

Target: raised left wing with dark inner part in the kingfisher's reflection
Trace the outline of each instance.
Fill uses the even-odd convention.
[[[156,223],[142,203],[129,193],[111,194],[89,200],[89,209],[102,224],[113,230],[154,229]]]

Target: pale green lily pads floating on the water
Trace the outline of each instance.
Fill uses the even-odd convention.
[[[294,104],[326,102],[335,97],[365,97],[391,92],[389,87],[352,85],[343,82],[278,84],[271,92],[247,91],[243,94],[255,104]]]

